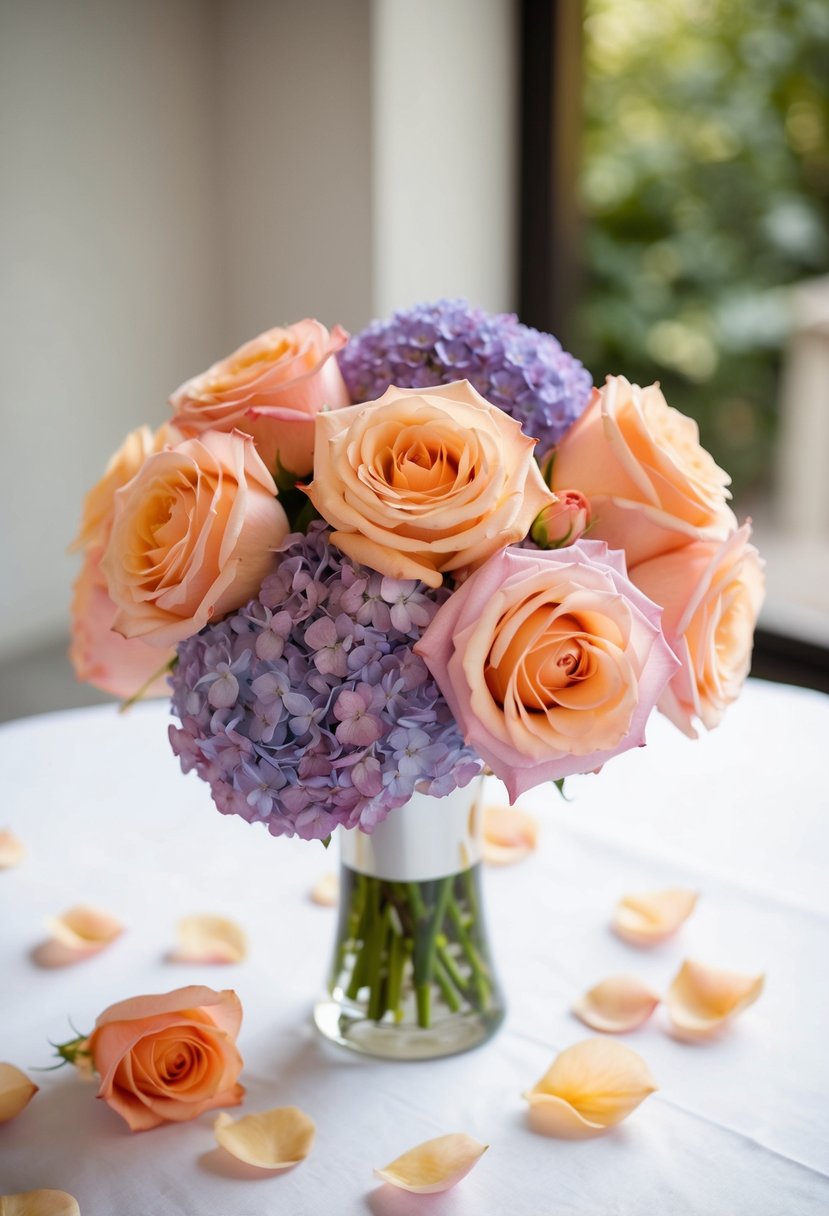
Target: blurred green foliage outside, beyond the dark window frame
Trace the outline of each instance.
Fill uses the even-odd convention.
[[[574,348],[771,469],[786,285],[829,269],[829,2],[585,0]]]

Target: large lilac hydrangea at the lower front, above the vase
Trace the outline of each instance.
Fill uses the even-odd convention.
[[[216,806],[273,835],[371,832],[414,788],[442,796],[481,761],[413,653],[449,595],[351,562],[317,520],[256,599],[179,646],[173,750]]]

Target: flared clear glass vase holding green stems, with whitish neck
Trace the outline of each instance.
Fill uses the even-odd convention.
[[[326,1038],[368,1055],[433,1059],[495,1034],[504,1004],[480,882],[483,779],[414,794],[371,835],[342,833],[339,924]]]

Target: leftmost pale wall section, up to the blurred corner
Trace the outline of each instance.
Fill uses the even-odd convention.
[[[0,655],[64,631],[83,494],[220,342],[207,16],[0,9]]]

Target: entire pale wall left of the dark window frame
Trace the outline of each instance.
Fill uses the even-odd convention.
[[[84,492],[263,328],[513,304],[511,0],[0,0],[0,662]]]

